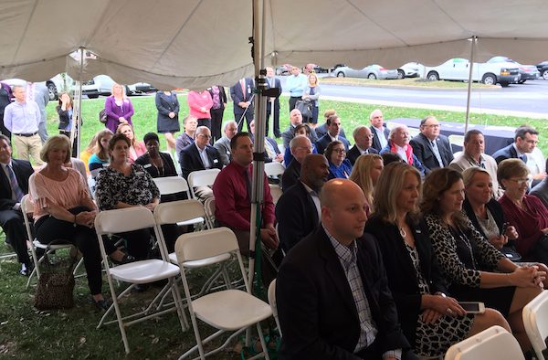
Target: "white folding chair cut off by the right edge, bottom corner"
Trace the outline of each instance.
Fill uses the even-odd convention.
[[[548,291],[543,291],[523,307],[523,325],[538,360],[548,358]]]

